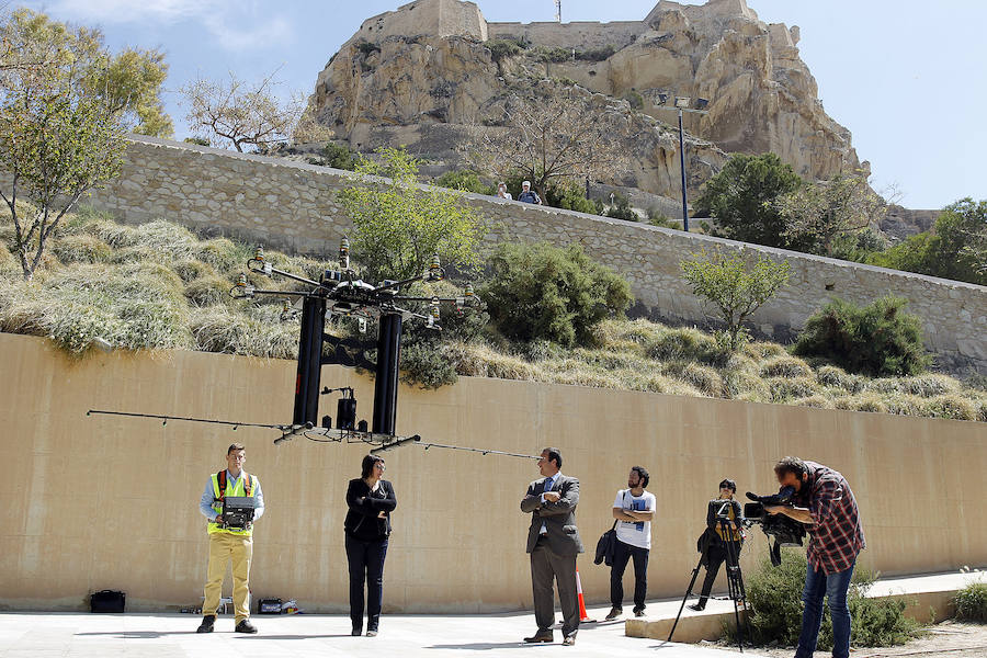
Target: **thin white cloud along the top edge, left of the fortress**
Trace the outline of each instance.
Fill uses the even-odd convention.
[[[292,35],[286,19],[243,0],[56,0],[53,13],[103,24],[194,21],[227,50],[270,47]]]

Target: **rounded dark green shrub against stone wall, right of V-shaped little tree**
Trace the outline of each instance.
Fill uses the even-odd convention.
[[[907,304],[893,296],[864,307],[833,299],[806,321],[792,351],[821,356],[852,373],[920,374],[931,358],[922,347],[919,319],[903,310]]]

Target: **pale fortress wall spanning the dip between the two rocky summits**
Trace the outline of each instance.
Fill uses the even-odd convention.
[[[634,43],[648,29],[642,21],[614,21],[599,23],[487,23],[489,38],[523,37],[536,46],[547,48],[623,48]]]

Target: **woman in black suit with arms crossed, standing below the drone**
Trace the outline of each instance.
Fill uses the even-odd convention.
[[[384,557],[390,536],[390,512],[397,507],[394,487],[384,478],[384,460],[363,457],[361,477],[347,488],[347,559],[350,563],[352,635],[363,633],[363,583],[366,581],[366,635],[377,634],[384,591]]]

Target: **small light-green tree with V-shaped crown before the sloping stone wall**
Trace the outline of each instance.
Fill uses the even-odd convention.
[[[707,254],[704,249],[682,261],[682,272],[692,293],[717,309],[726,325],[726,347],[737,350],[746,339],[744,320],[787,283],[791,268],[767,256],[748,264],[742,254]]]

